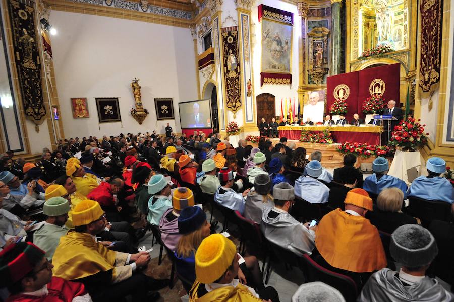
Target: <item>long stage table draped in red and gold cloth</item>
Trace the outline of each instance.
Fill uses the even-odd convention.
[[[287,137],[287,139],[299,140],[301,130],[308,130],[314,133],[325,130],[326,126],[279,126],[279,137]],[[380,126],[331,126],[329,131],[334,139],[334,142],[362,142],[373,145],[380,144]]]

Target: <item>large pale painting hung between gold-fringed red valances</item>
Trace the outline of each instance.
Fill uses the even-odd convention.
[[[258,6],[262,22],[262,67],[260,86],[283,84],[292,86],[293,13],[266,5]]]

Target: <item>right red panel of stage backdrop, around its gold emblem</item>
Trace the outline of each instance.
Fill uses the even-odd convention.
[[[386,85],[384,94],[381,96],[387,103],[395,101],[396,107],[401,107],[399,100],[399,84],[401,78],[401,64],[383,65],[380,67],[368,68],[360,71],[358,79],[358,114],[361,118],[363,113],[363,102],[370,97],[369,85],[375,79],[381,79]],[[349,112],[350,113],[350,112]],[[354,112],[352,112],[353,115]],[[361,114],[360,114],[361,113]]]

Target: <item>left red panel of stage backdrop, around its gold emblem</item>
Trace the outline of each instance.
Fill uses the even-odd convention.
[[[331,104],[335,101],[334,89],[337,85],[345,84],[350,88],[350,95],[347,98],[348,112],[345,118],[349,122],[353,119],[353,114],[358,108],[358,74],[359,72],[355,71],[328,77],[326,83],[326,114],[332,116],[332,114],[329,113],[329,108],[331,108]]]

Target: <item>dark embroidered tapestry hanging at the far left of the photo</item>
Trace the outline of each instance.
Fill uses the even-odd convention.
[[[35,10],[19,1],[9,0],[8,11],[25,116],[36,125],[40,125],[44,122],[46,108],[42,97],[41,62],[34,23]]]

